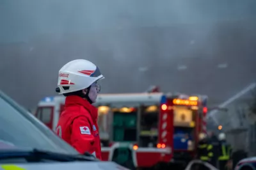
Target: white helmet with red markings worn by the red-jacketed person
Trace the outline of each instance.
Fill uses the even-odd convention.
[[[56,92],[65,94],[79,91],[99,79],[104,79],[104,76],[96,65],[85,59],[75,59],[60,69]]]

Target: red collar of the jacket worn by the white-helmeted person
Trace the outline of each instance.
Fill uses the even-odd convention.
[[[97,121],[98,118],[98,109],[90,104],[86,99],[81,98],[79,96],[68,96],[65,100],[65,106],[71,105],[82,105],[88,112],[90,112],[93,120]]]

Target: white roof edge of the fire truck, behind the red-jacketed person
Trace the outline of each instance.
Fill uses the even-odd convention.
[[[116,93],[116,94],[99,94],[97,102],[94,104],[111,105],[115,107],[134,107],[136,105],[155,105],[159,104],[163,93]],[[64,104],[64,96],[45,97],[38,106],[54,106]]]

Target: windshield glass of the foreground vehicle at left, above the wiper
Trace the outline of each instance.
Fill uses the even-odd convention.
[[[0,91],[0,150],[38,149],[78,154],[43,123]]]

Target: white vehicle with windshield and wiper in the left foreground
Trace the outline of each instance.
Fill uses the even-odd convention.
[[[79,154],[33,114],[0,91],[0,169],[125,169]]]

